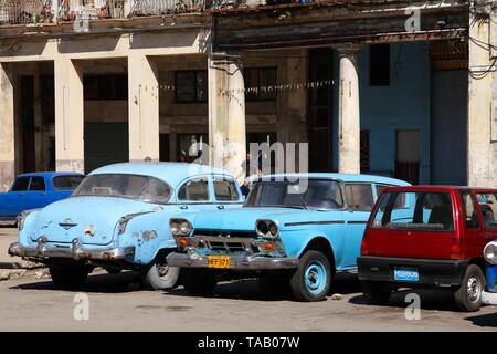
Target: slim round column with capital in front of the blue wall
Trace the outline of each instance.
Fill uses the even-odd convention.
[[[360,113],[359,76],[357,56],[359,48],[337,48],[340,58],[338,95],[338,171],[359,174],[360,166]]]

